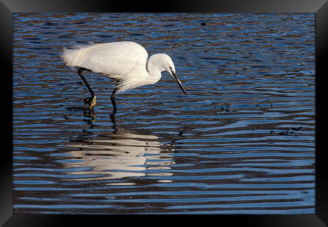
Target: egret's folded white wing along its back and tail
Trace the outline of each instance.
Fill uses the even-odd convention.
[[[145,68],[148,53],[135,42],[112,42],[65,49],[63,58],[70,67],[79,66],[114,76]]]

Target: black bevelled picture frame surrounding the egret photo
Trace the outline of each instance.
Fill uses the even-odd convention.
[[[159,2],[158,2],[159,3]],[[2,84],[2,122],[3,143],[1,150],[0,171],[0,224],[3,226],[64,226],[69,220],[74,225],[86,224],[90,217],[100,221],[113,221],[120,219],[120,224],[134,218],[144,218],[144,215],[41,215],[41,214],[13,214],[13,171],[12,151],[13,143],[13,95],[12,81],[12,55],[13,55],[13,13],[44,13],[44,12],[217,12],[217,13],[315,13],[315,214],[299,215],[206,215],[210,216],[217,224],[228,221],[246,226],[326,226],[328,225],[328,172],[325,168],[324,152],[322,149],[324,127],[323,100],[324,83],[326,76],[325,64],[328,55],[328,2],[326,0],[271,0],[271,1],[171,1],[162,4],[140,1],[88,1],[88,0],[0,0],[0,29],[1,29],[1,54],[0,60]],[[109,217],[110,216],[110,217]],[[160,218],[151,215],[152,218]],[[170,215],[171,216],[171,215]],[[177,215],[185,217],[185,215]],[[177,217],[175,216],[175,217]],[[204,223],[200,215],[187,215],[188,220],[199,219]],[[201,215],[203,216],[203,215]],[[214,217],[214,218],[213,218]],[[148,217],[147,217],[148,218]],[[164,217],[167,219],[168,217]],[[158,221],[158,219],[157,219]],[[209,220],[206,220],[206,222]],[[201,223],[200,222],[200,223]],[[93,222],[94,223],[94,222]],[[108,222],[107,222],[108,223]],[[141,222],[146,223],[146,222]],[[108,223],[110,224],[110,223]],[[170,224],[170,222],[169,222]]]

